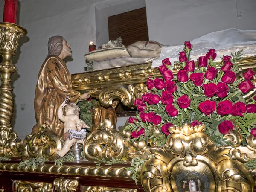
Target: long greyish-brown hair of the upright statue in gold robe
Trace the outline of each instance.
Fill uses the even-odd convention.
[[[63,49],[63,37],[62,36],[52,36],[48,41],[48,56],[56,55],[59,56]]]

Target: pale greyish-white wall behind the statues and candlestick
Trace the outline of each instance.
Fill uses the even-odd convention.
[[[256,1],[238,1],[241,1],[240,18],[237,18],[236,0],[145,0],[149,38],[172,45],[230,27],[256,30]],[[132,5],[127,6],[128,2]],[[20,39],[20,49],[14,58],[18,72],[13,75],[13,123],[20,138],[29,134],[35,125],[35,86],[41,64],[47,55],[48,39],[53,35],[64,36],[73,50],[73,57],[67,62],[67,67],[71,74],[81,73],[86,65],[84,54],[88,52],[89,42],[94,41],[98,47],[106,38],[99,37],[99,33],[104,30],[99,29],[96,33],[95,12],[111,16],[109,10],[113,10],[113,15],[116,15],[122,4],[125,5],[124,10],[129,11],[140,8],[143,1],[135,5],[134,0],[20,0],[18,24],[28,30],[26,38]],[[2,1],[0,13],[3,13]],[[100,39],[99,44],[96,37]],[[23,111],[21,104],[25,104]],[[118,126],[122,122],[125,122],[124,118],[118,121]]]

